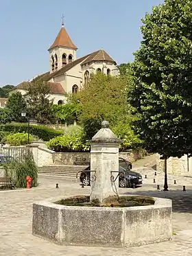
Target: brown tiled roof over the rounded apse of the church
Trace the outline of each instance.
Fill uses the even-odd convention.
[[[82,62],[82,65],[88,63],[88,62],[94,62],[94,61],[110,61],[113,62],[115,65],[117,64],[115,60],[113,60],[107,53],[104,51],[104,49],[100,49],[98,51],[94,51],[92,54],[89,54],[88,58]]]

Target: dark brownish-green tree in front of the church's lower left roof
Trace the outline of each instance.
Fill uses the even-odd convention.
[[[30,117],[34,117],[36,121],[47,124],[53,121],[51,106],[53,102],[49,100],[49,86],[43,79],[34,79],[29,83],[25,96],[27,108]]]

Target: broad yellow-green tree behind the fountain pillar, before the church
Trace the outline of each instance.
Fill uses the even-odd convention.
[[[124,76],[112,77],[103,73],[91,75],[77,97],[82,107],[80,121],[87,139],[91,139],[101,128],[101,121],[107,120],[117,136],[125,139],[122,150],[141,143],[130,128],[130,123],[136,116],[131,115],[131,106],[127,101],[127,81]]]

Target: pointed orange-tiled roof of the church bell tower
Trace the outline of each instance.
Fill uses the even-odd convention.
[[[58,36],[56,37],[56,40],[54,40],[53,44],[49,49],[52,49],[56,46],[62,46],[62,47],[69,47],[72,49],[77,49],[77,47],[73,44],[71,38],[69,37],[69,34],[67,34],[67,31],[64,27],[60,29],[60,32]]]

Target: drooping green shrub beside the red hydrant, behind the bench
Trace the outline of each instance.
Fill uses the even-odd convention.
[[[19,162],[14,159],[13,161],[3,163],[3,167],[5,168],[6,176],[16,181],[16,187],[26,187],[27,176],[32,178],[32,187],[38,185],[38,168],[31,152],[28,152],[23,157],[23,161]]]

